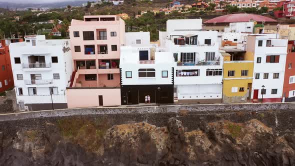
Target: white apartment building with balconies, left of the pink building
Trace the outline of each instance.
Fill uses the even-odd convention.
[[[25,36],[9,45],[16,99],[21,111],[67,108],[65,88],[72,73],[69,41]],[[52,97],[52,99],[51,99]]]

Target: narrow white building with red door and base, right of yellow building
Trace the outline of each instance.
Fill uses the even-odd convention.
[[[254,56],[251,99],[254,102],[281,102],[287,39],[248,36],[246,51]]]

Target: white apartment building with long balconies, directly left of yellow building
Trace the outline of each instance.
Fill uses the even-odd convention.
[[[217,31],[201,31],[201,19],[168,20],[166,29],[159,39],[174,57],[175,101],[221,102],[223,57]]]

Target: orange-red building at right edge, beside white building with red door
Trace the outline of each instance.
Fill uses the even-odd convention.
[[[295,45],[293,41],[289,41],[288,44],[282,95],[285,101],[295,101]]]

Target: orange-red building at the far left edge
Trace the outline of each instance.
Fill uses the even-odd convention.
[[[0,92],[3,92],[14,86],[8,46],[11,42],[19,42],[19,41],[22,41],[22,39],[19,39],[19,38],[1,39]]]

